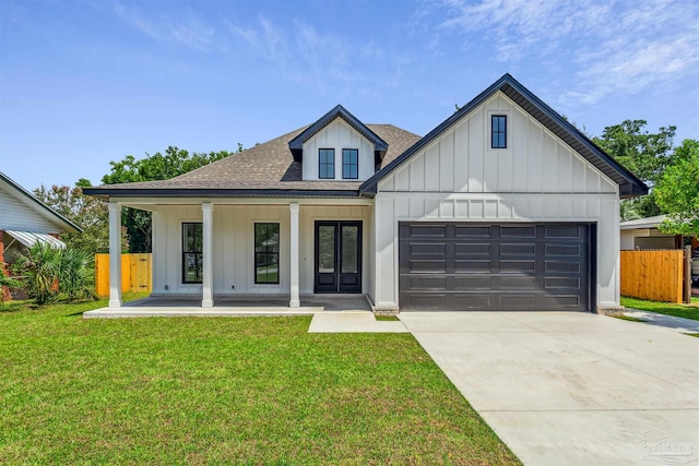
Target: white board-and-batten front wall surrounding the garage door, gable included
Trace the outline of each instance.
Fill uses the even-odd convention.
[[[490,116],[507,115],[507,148]],[[618,186],[501,93],[382,179],[375,199],[376,304],[396,307],[398,223],[572,222],[597,231],[597,306],[619,303]]]

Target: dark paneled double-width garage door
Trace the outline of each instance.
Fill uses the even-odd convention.
[[[401,311],[589,311],[582,224],[399,224]]]

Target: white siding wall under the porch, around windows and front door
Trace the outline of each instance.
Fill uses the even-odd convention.
[[[289,292],[288,204],[228,205],[214,203],[214,295],[280,295]],[[369,289],[369,207],[300,205],[299,291],[313,292],[315,222],[363,220],[363,287]],[[182,284],[182,223],[201,222],[201,205],[157,206],[153,212],[153,292],[200,296],[201,284]],[[254,283],[254,223],[280,224],[280,284]],[[168,285],[168,289],[165,289]],[[235,286],[235,288],[233,288]],[[368,292],[368,291],[365,291]]]

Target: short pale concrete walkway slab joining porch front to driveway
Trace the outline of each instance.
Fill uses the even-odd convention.
[[[313,314],[308,333],[407,333],[400,321],[377,321],[371,312]]]

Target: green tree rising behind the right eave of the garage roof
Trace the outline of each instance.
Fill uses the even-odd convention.
[[[661,127],[657,133],[644,130],[645,120],[626,120],[621,124],[606,127],[602,138],[593,141],[615,160],[624,165],[649,187],[653,187],[665,168],[673,164],[673,139],[676,127]],[[621,214],[652,217],[661,211],[651,191],[649,195],[621,202]],[[623,219],[631,219],[624,218]]]

